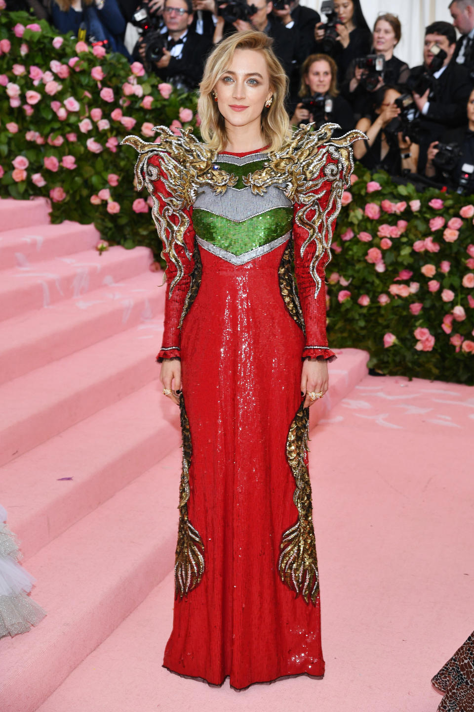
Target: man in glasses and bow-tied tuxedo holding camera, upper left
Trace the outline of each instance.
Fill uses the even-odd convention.
[[[204,61],[212,46],[208,36],[190,29],[193,22],[191,0],[165,0],[164,31],[143,38],[140,55],[164,81],[178,89],[192,91],[203,76]]]

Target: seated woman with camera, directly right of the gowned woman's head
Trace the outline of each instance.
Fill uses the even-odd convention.
[[[316,107],[311,112],[304,103],[297,104],[291,117],[293,126],[311,121],[316,122],[319,127],[324,122],[330,121],[339,124],[342,133],[355,126],[350,104],[340,96],[338,91],[336,63],[332,57],[326,54],[311,54],[301,67],[301,88],[298,96],[303,99],[311,99],[315,95],[318,95],[321,108]]]

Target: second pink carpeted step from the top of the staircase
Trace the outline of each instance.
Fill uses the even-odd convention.
[[[94,248],[99,239],[94,225],[80,225],[70,220],[58,225],[37,224],[4,230],[0,233],[0,269],[83,252]]]

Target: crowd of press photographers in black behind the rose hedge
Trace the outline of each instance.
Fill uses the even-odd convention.
[[[474,192],[474,0],[453,0],[453,23],[425,29],[423,64],[394,55],[398,17],[373,30],[360,0],[7,0],[32,9],[61,33],[141,61],[178,89],[195,90],[210,48],[229,33],[257,29],[274,40],[289,77],[291,124],[330,121],[367,141],[355,158],[400,180]],[[457,38],[457,33],[460,36]]]

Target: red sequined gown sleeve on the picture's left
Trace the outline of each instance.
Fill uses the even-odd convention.
[[[163,167],[161,167],[160,159],[158,156],[151,156],[149,159],[149,164],[156,166],[160,171],[160,177],[153,180],[153,195],[158,201],[158,211],[162,215],[163,210],[168,205],[167,197],[170,193],[166,189],[163,183],[163,175],[166,178],[166,174],[163,172]],[[178,282],[173,288],[173,280],[176,278],[178,273],[178,268],[175,263],[171,260],[171,256],[168,252],[163,251],[164,258],[166,259],[166,302],[165,302],[165,318],[164,318],[164,330],[163,330],[163,340],[161,342],[161,350],[156,356],[156,360],[161,362],[165,358],[179,358],[180,357],[180,345],[181,345],[181,332],[180,332],[180,321],[181,315],[183,314],[183,309],[185,307],[185,300],[188,295],[191,278],[194,270],[194,258],[193,250],[195,244],[195,231],[193,229],[193,222],[191,219],[192,209],[183,209],[183,214],[189,220],[188,229],[186,229],[183,236],[183,245],[175,242],[173,250],[176,253],[178,261],[181,263],[183,268],[183,274]],[[174,214],[171,219],[174,224],[178,224],[178,216]],[[163,245],[169,244],[169,231],[166,230],[166,241],[163,240]],[[171,292],[171,295],[170,295]]]

